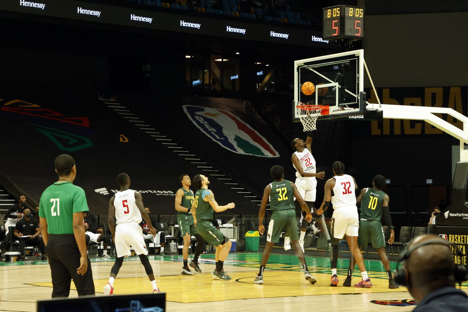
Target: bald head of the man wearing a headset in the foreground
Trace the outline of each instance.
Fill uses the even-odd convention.
[[[417,247],[428,240],[440,241],[440,244]],[[411,254],[405,261],[405,268],[409,272],[409,291],[412,294],[412,289],[423,285],[432,290],[455,285],[452,250],[445,239],[435,235],[421,235],[413,239],[407,248],[407,253]]]

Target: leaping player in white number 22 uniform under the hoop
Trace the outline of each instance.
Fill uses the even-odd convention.
[[[317,167],[315,163],[314,156],[312,156],[312,152],[310,146],[312,145],[312,136],[313,131],[307,132],[307,139],[306,141],[295,138],[291,142],[291,147],[295,152],[291,156],[292,166],[296,169],[296,187],[300,193],[300,196],[304,198],[309,207],[310,211],[314,211],[313,205],[315,202],[315,194],[316,194],[316,187],[317,187],[317,179],[323,179],[325,176],[325,172],[316,173]],[[294,198],[294,200],[296,200]],[[301,211],[301,218],[300,218],[300,236],[299,236],[299,245],[302,248],[302,252],[304,252],[304,237],[306,235],[307,227],[310,226],[310,223],[304,218],[306,212],[304,210]],[[313,225],[313,224],[312,224]],[[317,232],[317,229],[313,225],[314,233]],[[289,237],[285,237],[285,250],[291,249],[291,239]]]

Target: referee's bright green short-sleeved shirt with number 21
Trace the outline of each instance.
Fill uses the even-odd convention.
[[[49,234],[73,234],[73,213],[88,210],[85,191],[71,182],[52,184],[39,201],[39,217],[47,220]]]

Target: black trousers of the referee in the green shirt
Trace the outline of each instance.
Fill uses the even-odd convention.
[[[94,295],[93,272],[88,257],[88,271],[79,275],[80,250],[73,234],[49,234],[47,255],[51,266],[52,297],[68,297],[73,278],[78,296]]]

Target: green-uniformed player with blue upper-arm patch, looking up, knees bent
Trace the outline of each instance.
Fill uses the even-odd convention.
[[[216,268],[212,273],[213,279],[229,281],[232,279],[223,269],[224,261],[231,249],[231,241],[212,224],[213,211],[221,212],[227,209],[233,209],[235,204],[228,203],[225,206],[219,206],[214,199],[213,192],[208,189],[210,181],[203,174],[197,174],[193,178],[193,185],[197,189],[195,200],[193,201],[191,212],[197,226],[197,232],[205,239],[208,244],[216,247],[215,261]]]

